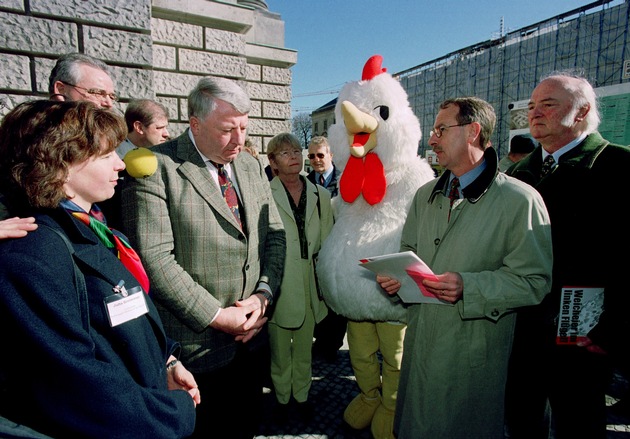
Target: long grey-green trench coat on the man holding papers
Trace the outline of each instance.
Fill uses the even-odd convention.
[[[529,185],[486,169],[464,188],[448,221],[449,172],[422,186],[403,228],[436,274],[458,272],[455,305],[408,311],[396,408],[399,439],[503,438],[503,402],[515,308],[540,303],[551,286],[549,216]]]

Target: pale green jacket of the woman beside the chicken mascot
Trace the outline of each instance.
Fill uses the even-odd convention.
[[[310,309],[313,310],[315,323],[319,323],[328,312],[324,300],[318,296],[315,282],[315,267],[313,255],[319,252],[322,242],[330,233],[333,225],[333,215],[330,206],[330,194],[324,189],[318,188],[310,181],[306,184],[306,213],[305,233],[308,241],[309,259],[309,300]],[[293,216],[293,209],[287,196],[287,191],[276,177],[271,181],[271,192],[276,200],[280,217],[284,223],[287,235],[287,257],[284,262],[284,276],[274,305],[271,321],[282,328],[299,328],[304,323],[306,315],[307,292],[304,291],[302,274],[302,256],[300,238],[298,236],[297,223]],[[319,207],[317,204],[319,203]]]

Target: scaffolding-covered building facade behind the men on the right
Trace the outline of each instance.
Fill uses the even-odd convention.
[[[419,153],[431,150],[429,131],[445,99],[478,96],[492,104],[497,127],[491,141],[503,157],[510,103],[529,99],[541,76],[572,70],[594,87],[629,82],[630,0],[611,2],[593,2],[396,73],[420,120]]]

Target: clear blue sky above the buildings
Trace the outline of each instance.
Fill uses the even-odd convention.
[[[580,0],[266,0],[285,22],[285,47],[298,51],[293,114],[337,97],[375,54],[397,73],[593,3]],[[623,0],[608,4],[614,6]],[[601,6],[597,8],[601,9]]]

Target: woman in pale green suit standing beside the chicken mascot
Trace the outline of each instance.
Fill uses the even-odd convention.
[[[317,291],[315,265],[321,243],[330,233],[333,215],[328,191],[300,174],[302,147],[293,134],[269,142],[267,155],[277,170],[271,191],[284,223],[287,249],[284,276],[269,320],[271,379],[282,421],[291,396],[303,420],[312,417],[307,402],[311,388],[311,348],[315,324],[328,313]]]

